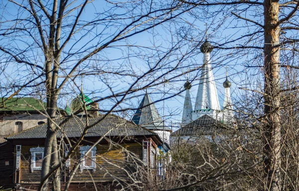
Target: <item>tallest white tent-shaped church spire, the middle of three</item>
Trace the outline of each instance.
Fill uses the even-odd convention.
[[[201,68],[194,112],[200,112],[202,115],[204,115],[206,110],[210,113],[220,110],[217,89],[210,64],[210,52],[212,50],[213,46],[207,40],[200,46],[200,51],[203,53],[203,66]],[[201,116],[197,114],[198,117]]]

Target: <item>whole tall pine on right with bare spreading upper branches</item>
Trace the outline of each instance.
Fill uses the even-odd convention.
[[[281,134],[281,92],[285,90],[281,88],[280,73],[281,67],[293,66],[290,63],[283,64],[281,51],[288,52],[297,47],[295,43],[298,41],[298,36],[293,35],[292,32],[298,30],[299,2],[297,0],[181,1],[198,7],[198,9],[193,9],[197,18],[210,18],[210,20],[218,21],[214,22],[211,27],[215,30],[223,29],[224,34],[225,30],[231,29],[231,25],[233,25],[232,28],[247,27],[248,31],[239,30],[241,35],[234,33],[222,36],[219,42],[215,42],[216,48],[235,49],[238,52],[243,49],[248,52],[248,49],[254,49],[259,52],[259,56],[264,57],[263,66],[249,64],[251,67],[262,67],[264,75],[264,89],[261,92],[264,105],[262,116],[264,190],[282,190],[281,149],[284,136]],[[207,16],[203,16],[204,14]],[[223,17],[224,19],[220,20]],[[221,27],[222,24],[225,27]],[[297,86],[292,86],[288,90],[292,89],[297,89]]]

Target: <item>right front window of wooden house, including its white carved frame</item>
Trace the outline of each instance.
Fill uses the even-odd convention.
[[[81,153],[81,164],[80,169],[81,172],[83,172],[83,169],[92,169],[93,171],[96,171],[96,147],[91,146],[82,146],[80,147],[80,153]],[[88,150],[91,149],[89,152]]]

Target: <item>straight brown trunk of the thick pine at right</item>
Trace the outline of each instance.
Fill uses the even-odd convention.
[[[264,1],[264,181],[266,191],[280,191],[280,26],[279,0]]]

